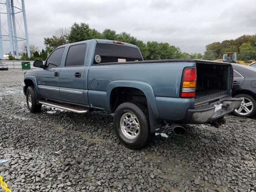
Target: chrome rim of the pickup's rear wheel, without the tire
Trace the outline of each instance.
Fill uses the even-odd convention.
[[[137,116],[132,112],[127,112],[120,119],[122,133],[128,139],[135,139],[140,134],[140,123]]]

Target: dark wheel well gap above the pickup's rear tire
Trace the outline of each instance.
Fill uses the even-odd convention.
[[[142,90],[132,87],[116,87],[110,95],[111,112],[114,112],[120,104],[128,101],[137,101],[147,105],[146,95]]]

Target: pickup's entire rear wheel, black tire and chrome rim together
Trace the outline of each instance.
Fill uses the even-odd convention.
[[[143,104],[126,102],[116,108],[114,130],[127,147],[141,149],[150,140],[148,113]]]

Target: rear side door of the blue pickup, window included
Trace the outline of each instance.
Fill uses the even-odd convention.
[[[66,61],[60,70],[60,98],[64,102],[87,105],[84,85],[87,44],[76,44],[68,48]],[[85,99],[86,98],[86,99]]]

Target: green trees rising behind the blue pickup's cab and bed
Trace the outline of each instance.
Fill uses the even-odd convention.
[[[167,42],[148,41],[144,43],[142,40],[128,34],[126,32],[116,33],[115,30],[105,29],[99,32],[96,29],[90,28],[86,23],[74,23],[70,28],[59,28],[52,37],[44,38],[44,44],[48,53],[54,48],[67,44],[90,39],[107,39],[116,40],[134,44],[140,48],[144,60],[160,60],[174,58],[196,58],[201,59],[201,53],[189,54],[182,52],[179,47],[170,45]]]

